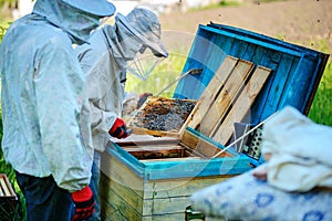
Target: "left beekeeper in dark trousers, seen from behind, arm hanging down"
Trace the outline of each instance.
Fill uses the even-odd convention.
[[[28,221],[81,220],[94,210],[85,77],[72,44],[114,11],[106,0],[37,0],[0,45],[2,150]]]

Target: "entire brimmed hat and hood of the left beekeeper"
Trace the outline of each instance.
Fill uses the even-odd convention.
[[[107,0],[37,0],[32,11],[69,33],[76,44],[86,42],[100,19],[114,12]]]

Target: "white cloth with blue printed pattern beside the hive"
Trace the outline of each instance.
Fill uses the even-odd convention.
[[[287,192],[256,179],[251,172],[194,192],[194,210],[203,212],[206,220],[219,221],[332,220],[331,191]]]

